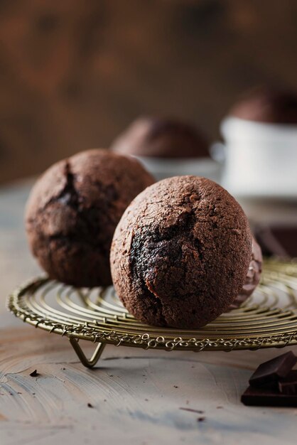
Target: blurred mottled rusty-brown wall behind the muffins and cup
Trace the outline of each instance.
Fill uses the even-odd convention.
[[[296,0],[1,0],[0,182],[108,146],[139,114],[218,125],[296,88]]]

